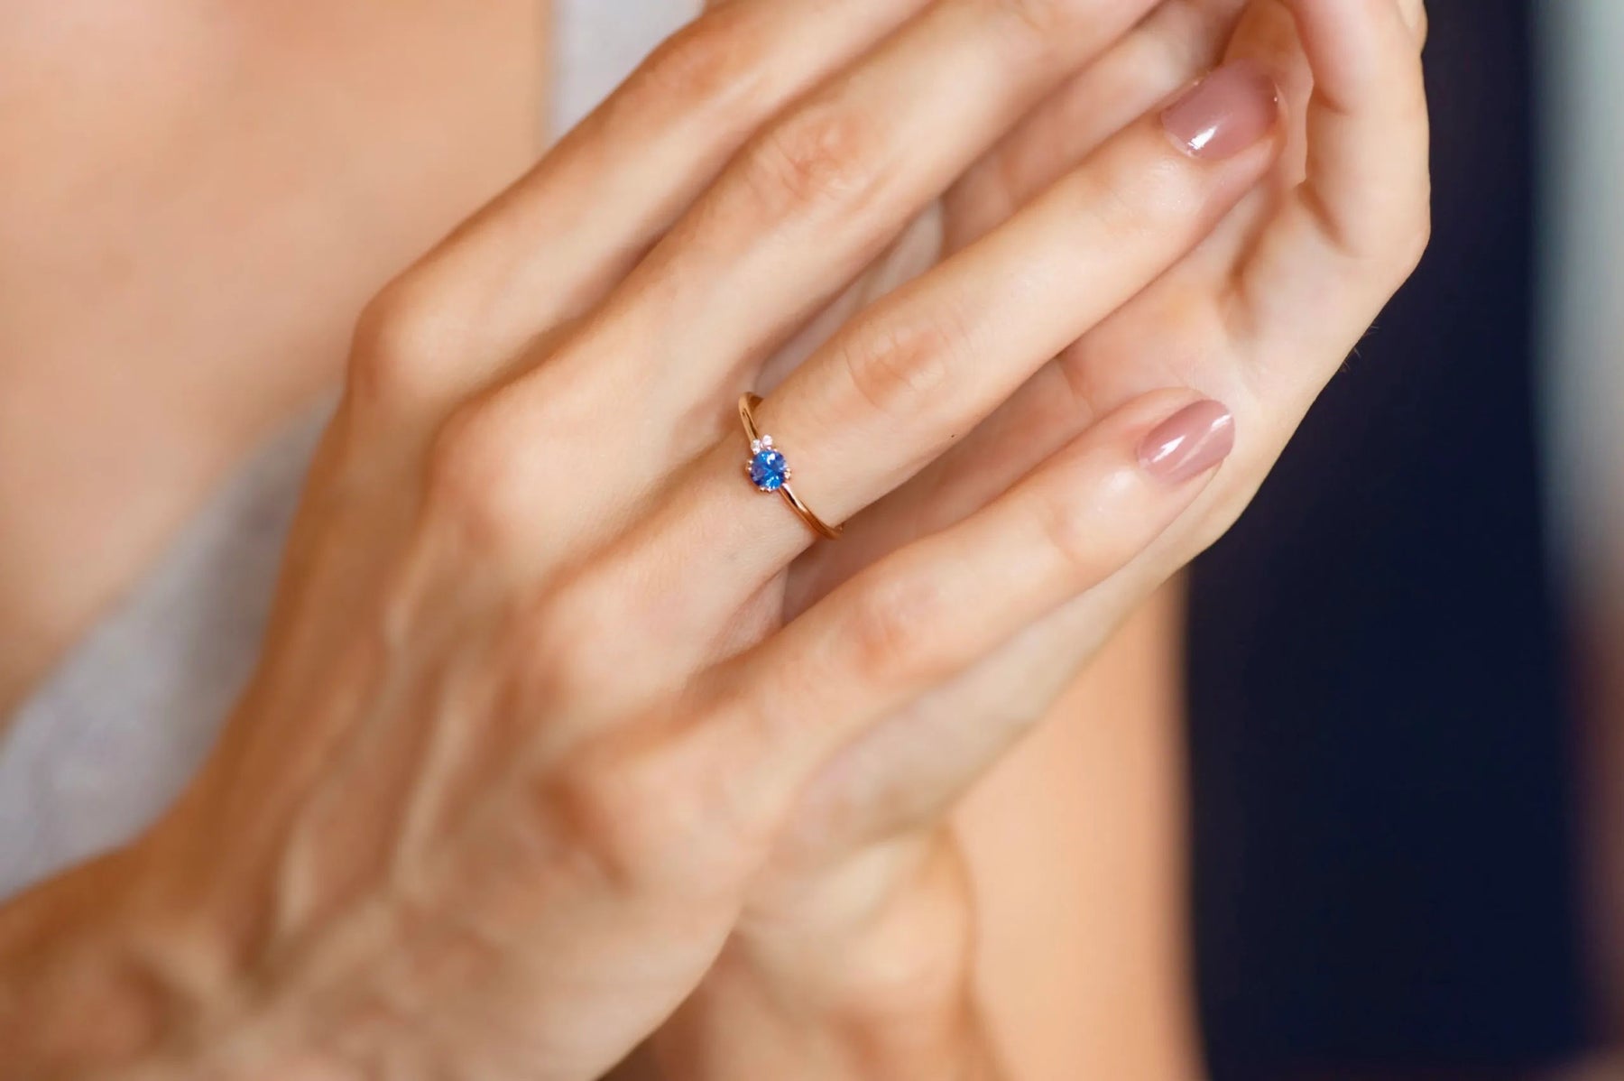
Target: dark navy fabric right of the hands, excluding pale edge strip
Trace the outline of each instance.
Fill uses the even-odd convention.
[[[1528,11],[1429,8],[1432,250],[1194,575],[1220,1081],[1518,1076],[1583,1042]]]

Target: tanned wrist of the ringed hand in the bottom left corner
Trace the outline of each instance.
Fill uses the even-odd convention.
[[[0,904],[6,1078],[351,1081],[265,1039],[245,920],[166,847],[149,834]]]

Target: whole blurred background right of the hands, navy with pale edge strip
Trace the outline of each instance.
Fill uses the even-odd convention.
[[[1624,3],[1429,10],[1432,250],[1194,575],[1220,1079],[1624,1078]]]

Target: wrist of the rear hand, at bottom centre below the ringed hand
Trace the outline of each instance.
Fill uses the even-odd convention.
[[[973,904],[944,836],[872,851],[747,915],[656,1036],[667,1079],[991,1076]]]

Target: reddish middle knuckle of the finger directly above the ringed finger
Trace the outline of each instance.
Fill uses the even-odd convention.
[[[840,102],[812,104],[754,143],[744,183],[773,217],[828,203],[849,209],[879,188],[883,148],[870,115]]]

